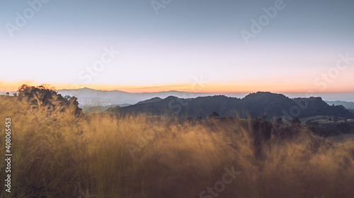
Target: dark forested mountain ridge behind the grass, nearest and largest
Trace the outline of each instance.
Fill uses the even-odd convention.
[[[164,114],[179,117],[207,118],[217,111],[219,116],[236,116],[247,118],[249,116],[271,119],[280,116],[288,118],[304,118],[309,116],[338,116],[341,118],[354,118],[354,113],[344,106],[330,106],[321,97],[290,99],[283,94],[270,92],[256,92],[239,99],[222,95],[212,97],[197,97],[194,99],[181,99],[178,97],[155,97],[138,104],[125,107],[112,107],[108,112],[115,113],[148,113],[152,116]],[[266,117],[265,117],[266,116]]]

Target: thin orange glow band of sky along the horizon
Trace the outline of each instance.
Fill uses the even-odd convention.
[[[0,92],[16,92],[21,85],[38,86],[42,83],[34,81],[18,81],[18,82],[0,82]],[[47,83],[45,83],[47,84]],[[250,93],[250,92],[274,92],[274,93],[326,93],[326,92],[354,92],[354,88],[341,87],[341,85],[328,86],[321,90],[320,87],[314,85],[309,86],[303,82],[275,82],[275,81],[243,81],[243,82],[207,82],[205,84],[198,83],[171,83],[164,85],[78,85],[78,84],[51,84],[50,87],[55,89],[81,89],[84,87],[103,91],[119,90],[122,92],[142,93],[142,92],[200,92],[200,93]]]

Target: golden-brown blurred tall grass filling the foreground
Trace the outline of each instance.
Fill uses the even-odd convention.
[[[13,154],[11,193],[1,185],[0,197],[354,197],[354,145],[300,125],[267,133],[262,121],[181,124],[72,109],[0,98],[0,151],[11,118]]]

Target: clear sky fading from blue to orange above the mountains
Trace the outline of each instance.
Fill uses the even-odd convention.
[[[354,92],[353,18],[352,0],[1,1],[0,92]]]

